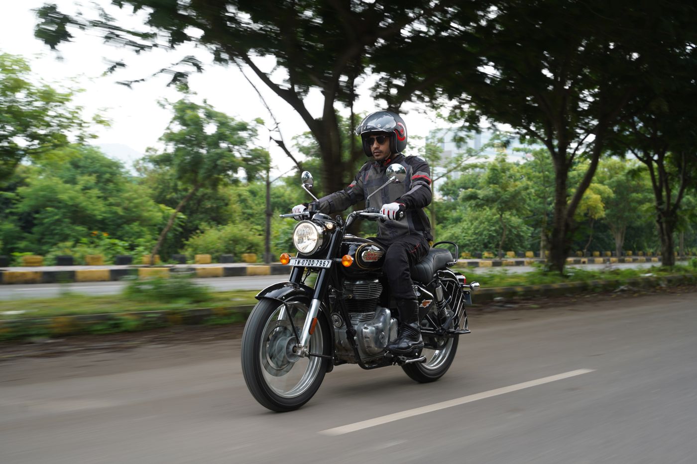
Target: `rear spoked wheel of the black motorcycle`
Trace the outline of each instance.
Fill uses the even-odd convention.
[[[430,327],[428,319],[422,321],[422,327]],[[435,382],[450,369],[457,353],[459,337],[424,337],[424,349],[421,354],[424,362],[415,362],[401,366],[406,375],[420,383]]]

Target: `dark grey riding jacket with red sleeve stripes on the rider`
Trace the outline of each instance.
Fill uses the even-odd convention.
[[[431,169],[418,156],[399,154],[384,162],[366,162],[348,187],[319,199],[319,210],[328,215],[366,199],[388,181],[386,171],[393,163],[399,163],[406,169],[404,183],[388,185],[367,201],[366,208],[374,207],[380,211],[384,204],[396,202],[403,203],[406,210],[404,217],[398,221],[378,221],[378,240],[392,244],[404,235],[422,235],[427,241],[433,240],[431,223],[423,210],[432,199]]]

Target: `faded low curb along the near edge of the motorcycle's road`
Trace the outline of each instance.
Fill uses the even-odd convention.
[[[544,284],[482,288],[473,293],[473,302],[485,303],[496,298],[544,297],[574,295],[629,288],[655,288],[697,284],[695,274],[674,274],[665,277],[592,280],[568,284]],[[228,324],[244,322],[253,306],[197,308],[169,311],[133,311],[127,313],[55,316],[47,318],[0,319],[0,341],[31,339],[33,337],[63,337],[74,334],[109,334],[135,332],[171,325]]]

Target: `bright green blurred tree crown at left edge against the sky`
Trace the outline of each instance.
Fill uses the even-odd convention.
[[[91,137],[82,108],[71,106],[75,90],[32,80],[25,59],[0,53],[0,185],[20,162],[67,146],[71,136],[78,142]],[[106,124],[99,116],[95,122]]]

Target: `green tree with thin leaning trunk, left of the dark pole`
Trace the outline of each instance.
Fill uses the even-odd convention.
[[[169,221],[162,229],[151,252],[151,263],[174,224],[178,212],[199,190],[215,190],[218,185],[236,179],[244,169],[252,180],[266,170],[268,153],[251,148],[256,137],[254,124],[236,121],[208,102],[199,105],[187,98],[171,104],[174,116],[160,140],[167,151],[148,156],[156,167],[169,167],[174,180],[188,188]]]

